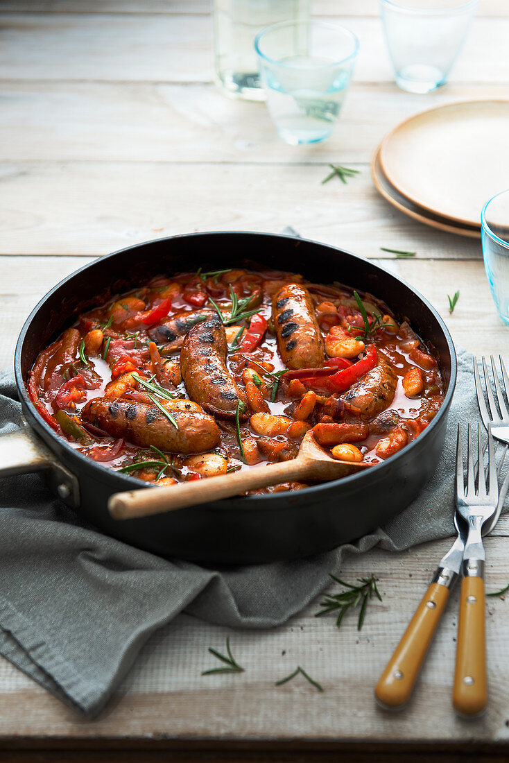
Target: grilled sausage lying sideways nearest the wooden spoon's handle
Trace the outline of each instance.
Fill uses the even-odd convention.
[[[82,420],[148,448],[151,445],[169,453],[201,453],[217,446],[221,433],[208,414],[172,410],[179,428],[155,405],[134,401],[95,398],[82,409]]]

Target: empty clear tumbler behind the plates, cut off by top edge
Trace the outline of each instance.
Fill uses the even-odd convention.
[[[427,93],[446,82],[478,0],[380,0],[396,84]]]

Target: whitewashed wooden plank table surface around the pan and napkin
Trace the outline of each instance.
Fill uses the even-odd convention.
[[[279,232],[288,224],[306,238],[383,260],[430,299],[456,343],[507,358],[507,327],[495,314],[480,242],[395,211],[369,172],[375,146],[409,115],[449,101],[507,97],[507,3],[481,0],[449,84],[427,96],[396,88],[375,0],[315,0],[313,13],[359,36],[359,61],[330,139],[292,147],[275,134],[265,105],[229,100],[213,84],[206,0],[3,0],[0,367],[11,365],[31,307],[97,256],[174,233]],[[330,162],[360,174],[348,185],[321,185]],[[382,246],[417,255],[391,259]],[[447,295],[458,289],[449,315]],[[486,540],[488,590],[509,582],[508,534],[506,517]],[[252,755],[269,745],[278,759],[293,750],[288,755],[299,760],[297,750],[348,747],[356,755],[377,749],[373,759],[380,761],[393,759],[384,745],[431,744],[436,760],[448,745],[477,745],[488,756],[478,759],[491,759],[509,742],[508,600],[488,603],[490,700],[481,719],[461,720],[451,706],[457,592],[409,707],[387,714],[373,700],[379,673],[448,544],[346,558],[344,578],[373,572],[383,594],[360,633],[355,617],[340,630],[333,620],[316,620],[316,602],[285,626],[259,632],[178,617],[150,639],[94,721],[0,658],[0,742],[58,744],[74,756],[107,742],[149,751],[194,744],[216,753],[250,743]],[[228,634],[246,672],[202,678],[208,646],[222,649]],[[325,691],[304,680],[275,687],[296,665]],[[349,759],[360,760],[356,755]]]

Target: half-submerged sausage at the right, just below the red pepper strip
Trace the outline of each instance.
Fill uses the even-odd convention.
[[[362,419],[372,419],[382,413],[393,401],[398,385],[391,364],[381,353],[378,355],[379,362],[375,368],[342,395],[343,401],[359,408]]]

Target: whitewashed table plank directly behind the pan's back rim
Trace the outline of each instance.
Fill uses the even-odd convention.
[[[379,196],[369,168],[358,168],[348,185],[322,185],[327,166],[314,163],[4,165],[0,253],[98,255],[195,230],[279,233],[292,225],[304,238],[368,257],[388,246],[480,258],[479,240],[411,221]]]

